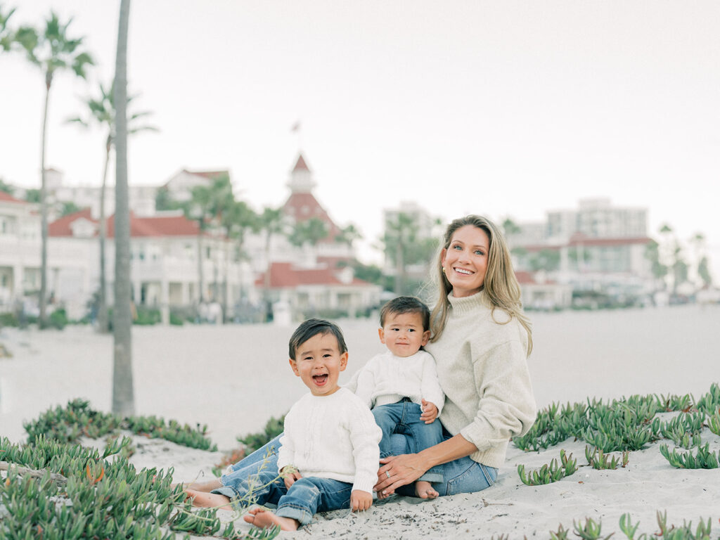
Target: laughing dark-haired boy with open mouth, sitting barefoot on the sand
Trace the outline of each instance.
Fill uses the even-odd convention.
[[[382,436],[372,413],[349,390],[338,386],[348,362],[343,333],[337,325],[309,319],[289,343],[292,371],[310,389],[285,416],[277,470],[224,485],[211,493],[186,490],[195,505],[223,506],[255,487],[258,504],[277,505],[273,513],[252,508],[245,521],[265,528],[279,525],[294,531],[312,521],[316,512],[372,505],[377,482],[378,443]]]

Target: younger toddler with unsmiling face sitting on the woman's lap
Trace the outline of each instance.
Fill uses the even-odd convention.
[[[433,356],[420,350],[430,339],[430,310],[415,297],[390,300],[380,310],[378,333],[387,351],[370,359],[346,387],[372,408],[382,429],[380,453],[392,453],[390,436],[398,432],[411,436],[415,452],[441,443],[442,426],[435,420],[445,395]],[[432,499],[438,492],[418,480],[415,495]]]

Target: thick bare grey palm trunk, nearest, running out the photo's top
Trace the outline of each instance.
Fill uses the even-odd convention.
[[[115,58],[115,305],[112,412],[135,412],[132,390],[132,311],[130,309],[130,208],[127,200],[127,26],[130,0],[120,0]]]

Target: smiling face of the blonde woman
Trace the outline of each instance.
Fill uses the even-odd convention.
[[[441,264],[456,298],[480,292],[485,283],[490,238],[484,230],[474,225],[464,225],[456,230],[450,245],[441,253]]]

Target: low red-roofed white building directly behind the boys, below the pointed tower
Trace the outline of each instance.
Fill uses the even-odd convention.
[[[382,292],[379,285],[354,277],[350,267],[307,269],[287,262],[272,263],[269,275],[258,276],[255,286],[268,287],[269,300],[289,306],[295,320],[313,315],[354,317],[377,307]]]

